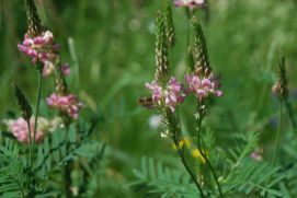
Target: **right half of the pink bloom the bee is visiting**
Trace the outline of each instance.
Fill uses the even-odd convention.
[[[184,102],[185,94],[183,94],[183,84],[179,83],[176,79],[172,77],[164,91],[164,96],[165,105],[174,113],[178,104]]]

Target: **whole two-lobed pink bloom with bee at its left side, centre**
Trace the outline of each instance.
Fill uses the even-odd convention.
[[[159,105],[163,103],[172,113],[175,112],[178,104],[183,103],[185,97],[183,84],[179,83],[174,77],[169,80],[164,90],[157,81],[146,83],[146,86],[152,92],[152,101]]]

